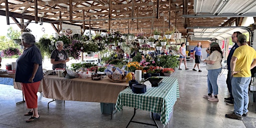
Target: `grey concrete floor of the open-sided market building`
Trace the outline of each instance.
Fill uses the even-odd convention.
[[[228,97],[225,84],[226,71],[218,77],[218,102],[203,98],[207,93],[207,70],[201,64],[202,72],[192,71],[193,62],[188,62],[189,70],[176,70],[172,77],[178,78],[180,98],[174,105],[173,116],[165,127],[255,127],[255,103],[249,104],[248,117],[243,120],[225,118],[225,113],[233,111],[232,105],[225,104],[223,98]],[[45,98],[38,92],[38,111],[40,119],[26,123],[29,116],[23,116],[28,111],[25,103],[16,104],[22,100],[22,92],[11,85],[0,84],[0,127],[125,127],[133,114],[133,108],[125,107],[120,112],[101,114],[99,102],[61,101],[49,104],[52,99]],[[252,121],[244,121],[248,118]],[[134,117],[137,121],[153,123],[148,111],[137,110]],[[253,120],[254,119],[254,120]],[[159,127],[163,127],[157,120]],[[249,123],[249,124],[248,124]],[[252,126],[250,126],[252,125]],[[144,124],[130,123],[128,127],[155,127]]]

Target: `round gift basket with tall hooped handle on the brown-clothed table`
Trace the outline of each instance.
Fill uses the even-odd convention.
[[[117,64],[111,64],[111,62],[114,61],[119,61],[118,65]],[[120,63],[122,63],[122,67],[119,68],[118,66],[120,66]],[[105,69],[105,73],[108,77],[108,79],[112,82],[122,82],[125,79],[125,76],[128,74],[128,67],[126,66],[126,62],[121,61],[119,59],[114,59],[108,62],[106,69]],[[127,68],[127,70],[125,70],[125,68]]]

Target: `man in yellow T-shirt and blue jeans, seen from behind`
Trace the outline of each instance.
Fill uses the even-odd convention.
[[[246,43],[246,36],[237,36],[237,47],[231,57],[230,72],[233,75],[231,80],[232,94],[234,97],[234,111],[232,114],[225,114],[225,117],[242,119],[248,112],[248,85],[250,82],[250,69],[256,65],[256,51]]]

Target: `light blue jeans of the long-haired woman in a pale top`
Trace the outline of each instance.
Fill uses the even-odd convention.
[[[213,95],[218,94],[217,78],[218,78],[218,74],[221,72],[221,69],[222,68],[208,70],[207,84],[208,84],[208,93],[210,94],[212,92],[213,92]]]

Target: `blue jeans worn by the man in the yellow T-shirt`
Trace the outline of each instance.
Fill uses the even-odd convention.
[[[232,77],[232,94],[234,97],[234,113],[242,115],[248,112],[248,85],[250,77]]]

